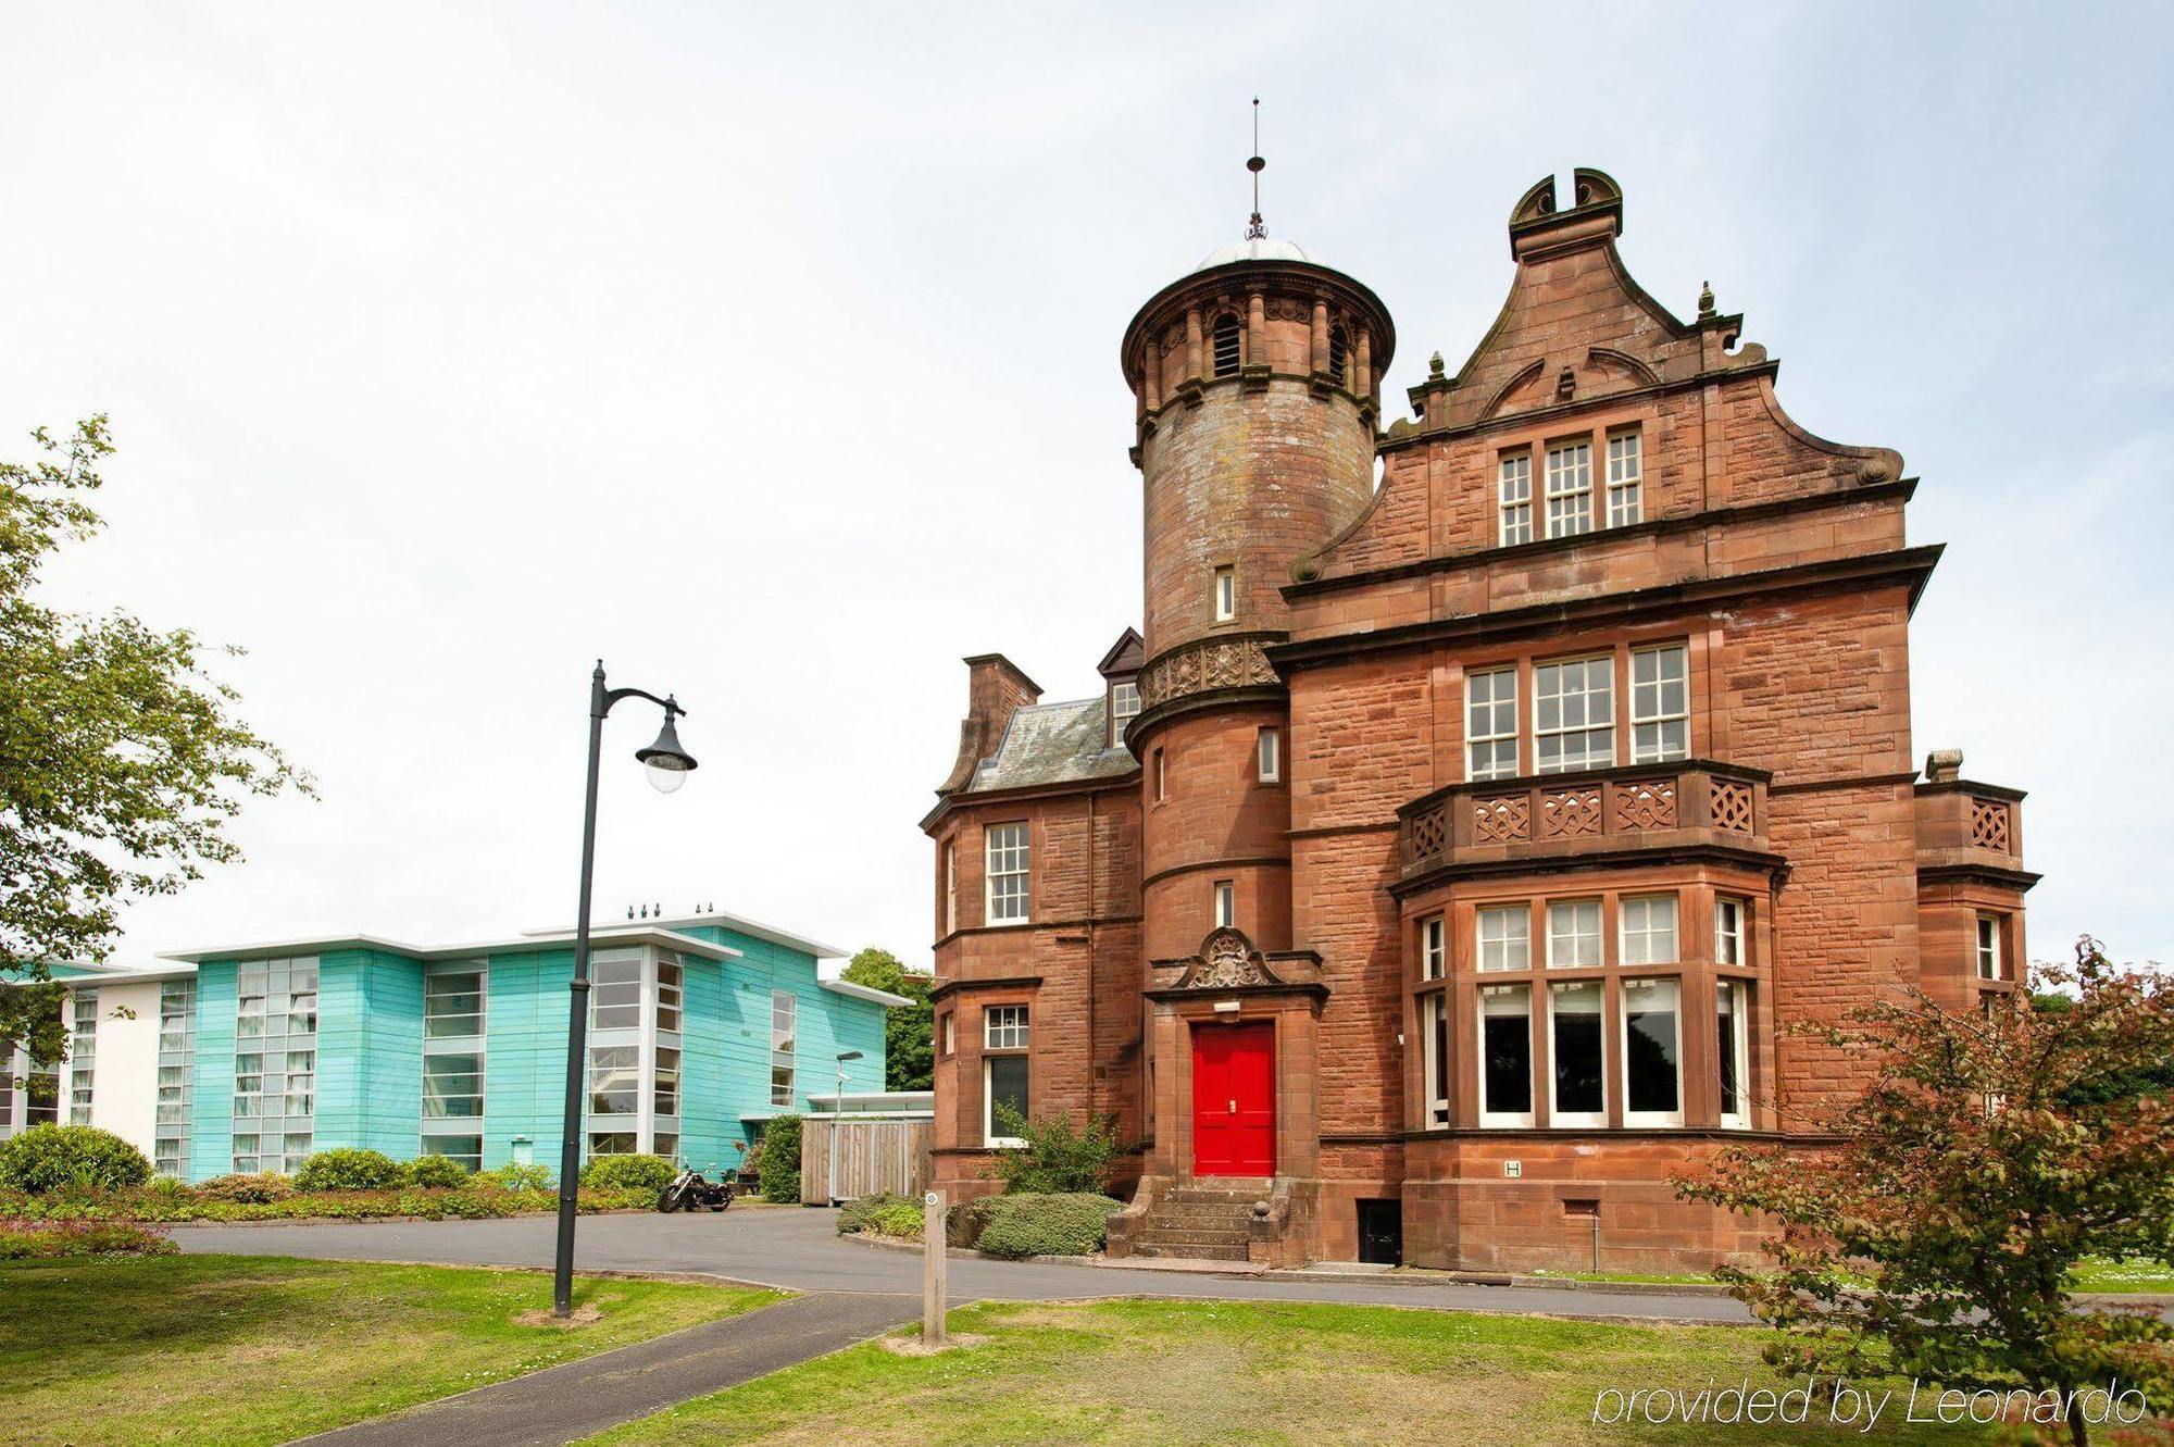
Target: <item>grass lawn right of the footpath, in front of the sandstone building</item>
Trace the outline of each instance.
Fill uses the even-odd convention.
[[[1800,1443],[1850,1430],[1594,1423],[1596,1391],[1787,1386],[1763,1332],[1480,1317],[1383,1306],[980,1304],[980,1345],[898,1356],[867,1343],[591,1443]],[[1885,1384],[1883,1384],[1885,1386]],[[1881,1443],[1991,1440],[1896,1427]],[[1613,1410],[1613,1408],[1611,1408]],[[1815,1414],[1817,1417],[1817,1414]]]

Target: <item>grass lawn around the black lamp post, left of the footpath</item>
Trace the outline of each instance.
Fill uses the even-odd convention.
[[[0,1430],[72,1443],[285,1443],[783,1299],[550,1275],[263,1256],[0,1262]]]

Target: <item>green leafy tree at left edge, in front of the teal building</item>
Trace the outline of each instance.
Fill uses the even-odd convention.
[[[170,895],[241,858],[228,826],[250,795],[311,793],[309,776],[235,717],[196,632],[35,597],[63,543],[100,528],[87,502],[113,452],[104,415],[37,456],[0,463],[0,1054],[65,1052],[54,960],[102,960],[130,895]]]

